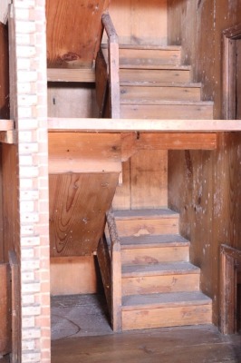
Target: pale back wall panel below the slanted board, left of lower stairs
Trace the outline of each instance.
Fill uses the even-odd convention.
[[[94,294],[100,289],[93,256],[51,259],[51,295]]]

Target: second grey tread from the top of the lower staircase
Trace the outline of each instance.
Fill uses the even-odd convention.
[[[125,249],[141,249],[147,247],[189,246],[190,242],[179,234],[159,234],[121,237],[120,246]]]

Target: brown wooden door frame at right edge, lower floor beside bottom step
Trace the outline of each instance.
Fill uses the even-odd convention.
[[[221,245],[220,272],[220,330],[223,334],[236,333],[236,260],[241,261],[241,250]]]

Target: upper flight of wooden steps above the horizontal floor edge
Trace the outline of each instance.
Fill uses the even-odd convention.
[[[201,84],[181,64],[180,46],[119,46],[120,118],[213,118],[213,103],[201,101]],[[103,49],[108,62],[107,49]]]

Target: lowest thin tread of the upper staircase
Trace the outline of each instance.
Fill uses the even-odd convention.
[[[214,103],[212,101],[169,101],[169,100],[145,100],[140,98],[135,100],[121,100],[120,104],[213,106]]]

